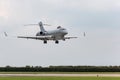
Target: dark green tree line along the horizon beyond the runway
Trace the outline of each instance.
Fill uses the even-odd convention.
[[[120,66],[6,66],[0,72],[120,72]]]

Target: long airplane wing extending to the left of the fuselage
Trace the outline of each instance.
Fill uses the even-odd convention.
[[[53,38],[50,36],[33,36],[33,37],[18,36],[17,38],[36,39],[36,40],[53,40]]]

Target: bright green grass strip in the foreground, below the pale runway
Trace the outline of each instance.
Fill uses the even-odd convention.
[[[120,77],[0,77],[0,80],[120,80]]]

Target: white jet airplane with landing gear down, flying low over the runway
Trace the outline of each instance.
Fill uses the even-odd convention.
[[[17,38],[42,40],[44,44],[47,44],[48,40],[53,40],[55,41],[56,44],[58,44],[59,40],[65,41],[66,39],[77,38],[77,37],[65,37],[68,34],[68,31],[61,26],[58,26],[57,29],[55,30],[46,31],[43,27],[44,24],[42,22],[39,22],[38,25],[40,27],[40,31],[36,33],[36,36],[32,36],[32,37],[31,36],[17,36]],[[6,32],[4,32],[4,34],[5,36],[7,36]]]

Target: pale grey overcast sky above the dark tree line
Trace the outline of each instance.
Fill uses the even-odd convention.
[[[39,21],[79,38],[57,45],[15,37],[35,35],[39,27],[24,24]],[[120,65],[120,0],[0,0],[0,66],[6,65]]]

